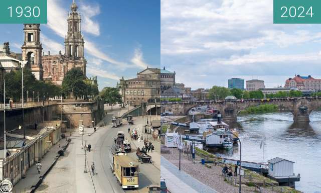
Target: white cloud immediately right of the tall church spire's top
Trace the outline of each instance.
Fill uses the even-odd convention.
[[[82,15],[83,24],[81,25],[82,30],[84,32],[93,34],[95,36],[100,35],[100,27],[99,23],[94,21],[92,18],[100,14],[100,7],[98,4],[89,5],[84,4],[83,2],[80,4],[80,11]]]

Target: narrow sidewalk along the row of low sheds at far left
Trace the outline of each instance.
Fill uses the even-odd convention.
[[[60,140],[60,148],[65,145],[66,140]],[[40,174],[38,174],[36,163],[28,168],[26,177],[19,180],[19,182],[13,187],[13,192],[30,192],[35,186],[40,178],[46,173],[46,171],[52,166],[55,158],[58,156],[58,143],[52,146],[52,148],[45,154],[45,156],[40,160],[42,168]]]

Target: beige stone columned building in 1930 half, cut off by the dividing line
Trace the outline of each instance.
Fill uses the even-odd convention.
[[[141,103],[159,101],[161,95],[161,69],[146,68],[137,73],[136,78],[125,80],[124,77],[117,83],[122,96],[123,104],[140,105]]]

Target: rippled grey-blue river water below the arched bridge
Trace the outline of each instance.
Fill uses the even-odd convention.
[[[295,188],[306,193],[321,192],[321,111],[311,113],[309,124],[294,124],[291,113],[267,113],[239,116],[230,126],[240,129],[242,160],[263,162],[260,143],[265,137],[265,162],[275,157],[294,161],[294,173],[301,176]],[[239,159],[238,145],[229,152],[215,153]]]

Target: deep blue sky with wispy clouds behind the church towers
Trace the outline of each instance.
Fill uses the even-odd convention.
[[[160,64],[160,2],[76,0],[82,17],[87,76],[98,76],[99,88],[115,86],[124,76]],[[72,0],[48,0],[48,24],[41,25],[43,51],[64,53],[67,13]],[[23,25],[0,24],[0,43],[20,52]]]

